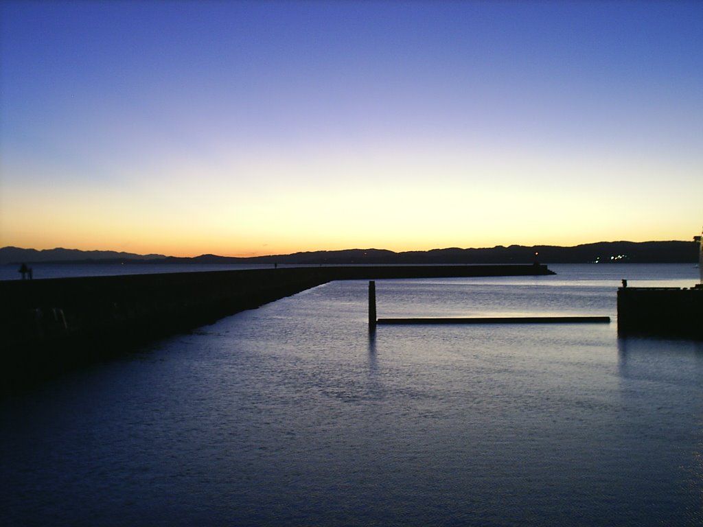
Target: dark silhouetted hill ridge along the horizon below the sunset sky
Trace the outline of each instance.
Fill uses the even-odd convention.
[[[202,254],[193,258],[163,254],[133,254],[115,251],[81,251],[79,249],[21,249],[2,247],[0,263],[281,263],[318,264],[441,264],[441,263],[695,263],[697,242],[597,242],[574,247],[555,245],[510,245],[480,249],[431,249],[429,251],[393,252],[387,249],[344,249],[340,251],[297,252],[269,256],[217,256]],[[538,253],[535,255],[535,253]]]

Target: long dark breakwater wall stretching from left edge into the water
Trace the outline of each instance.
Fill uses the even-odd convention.
[[[1,281],[1,390],[331,280],[546,274],[538,265],[340,266]]]

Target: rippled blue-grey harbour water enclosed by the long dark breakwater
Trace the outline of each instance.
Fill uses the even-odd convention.
[[[379,316],[616,315],[621,278],[379,280]],[[367,327],[332,282],[0,403],[8,525],[703,524],[703,343]]]

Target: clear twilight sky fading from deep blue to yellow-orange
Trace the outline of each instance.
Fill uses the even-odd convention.
[[[0,246],[690,240],[703,2],[4,1]]]

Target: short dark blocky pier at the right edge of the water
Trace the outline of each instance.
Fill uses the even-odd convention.
[[[620,287],[620,334],[654,334],[703,339],[703,287]]]

